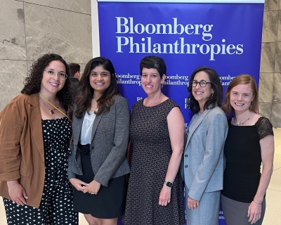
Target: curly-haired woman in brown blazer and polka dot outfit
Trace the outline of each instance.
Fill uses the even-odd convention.
[[[78,224],[67,179],[69,74],[61,56],[42,56],[22,94],[0,113],[0,195],[8,224]]]

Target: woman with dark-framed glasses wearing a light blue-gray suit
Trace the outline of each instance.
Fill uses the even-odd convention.
[[[221,110],[223,87],[212,68],[197,68],[188,86],[193,115],[183,154],[187,224],[217,225],[223,189],[223,145],[228,133]]]

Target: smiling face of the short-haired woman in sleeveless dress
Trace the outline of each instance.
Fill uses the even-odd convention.
[[[152,68],[143,68],[141,73],[141,85],[146,94],[155,94],[161,90],[161,85],[164,83],[166,75],[160,78],[159,72]]]

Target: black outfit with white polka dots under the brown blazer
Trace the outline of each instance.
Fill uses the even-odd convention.
[[[78,213],[73,211],[72,186],[67,179],[67,161],[70,154],[68,146],[72,135],[71,123],[67,117],[63,117],[42,120],[42,126],[45,183],[39,209],[29,205],[17,205],[4,198],[7,223],[13,225],[78,224]]]

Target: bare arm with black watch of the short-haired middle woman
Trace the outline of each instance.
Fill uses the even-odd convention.
[[[176,178],[176,174],[178,173],[178,168],[181,164],[185,134],[183,115],[181,114],[181,110],[178,107],[175,107],[171,110],[171,112],[167,116],[167,122],[173,153],[171,154],[165,181],[174,183],[174,179]],[[159,205],[167,205],[168,203],[170,203],[171,188],[166,186],[166,184],[163,185],[159,195]]]

